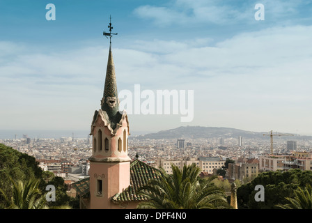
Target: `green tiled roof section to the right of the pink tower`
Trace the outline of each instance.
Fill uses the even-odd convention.
[[[137,194],[139,188],[148,183],[149,180],[159,179],[158,169],[150,167],[150,165],[134,160],[130,165],[130,186],[123,192],[116,194],[113,201],[143,201],[144,198]]]

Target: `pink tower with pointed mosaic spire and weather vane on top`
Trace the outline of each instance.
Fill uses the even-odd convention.
[[[111,33],[103,33],[109,36]],[[90,160],[90,208],[118,208],[111,197],[123,192],[130,185],[130,157],[127,153],[129,122],[125,111],[119,112],[119,100],[116,84],[111,43],[107,61],[107,72],[101,108],[95,111],[91,124],[93,152]]]

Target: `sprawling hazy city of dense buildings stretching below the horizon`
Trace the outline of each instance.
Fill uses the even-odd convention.
[[[129,137],[129,157],[135,160],[136,155],[139,155],[139,160],[158,169],[165,168],[170,174],[172,174],[170,165],[178,164],[182,167],[183,161],[189,161],[188,164],[196,162],[203,173],[213,174],[214,171],[224,166],[226,159],[235,160],[238,164],[246,163],[247,160],[258,160],[256,162],[257,173],[289,169],[290,162],[292,162],[292,168],[312,170],[310,163],[312,162],[312,140],[309,136],[305,139],[297,135],[293,139],[294,137],[287,137],[287,134],[286,136],[280,134],[274,137],[274,153],[270,153],[270,137],[265,136],[263,139],[244,139],[241,136],[205,139],[141,139],[141,137],[140,135]],[[56,176],[71,180],[72,183],[88,177],[90,168],[88,158],[91,157],[93,148],[91,137],[31,139],[24,134],[21,139],[1,139],[0,143],[35,157],[43,170],[52,171]],[[268,157],[270,154],[280,156],[281,160],[276,159],[276,162],[281,161],[281,164],[279,166],[274,164],[274,167],[259,165],[260,157]],[[209,157],[216,161],[215,166],[203,168],[202,164],[198,164],[198,160],[202,162],[205,159],[209,160]],[[304,163],[300,165],[300,162]],[[246,176],[240,176],[240,180],[244,177]],[[235,180],[235,176],[232,180]]]

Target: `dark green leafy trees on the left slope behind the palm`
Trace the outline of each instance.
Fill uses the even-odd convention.
[[[56,207],[77,203],[75,199],[66,194],[63,178],[54,176],[52,172],[42,171],[35,157],[20,153],[3,144],[0,144],[0,179],[0,207],[6,206],[8,200],[17,198],[17,192],[30,191],[27,188],[36,187],[36,196],[38,197],[38,194],[46,192],[47,185],[54,185],[56,188],[56,201],[50,201],[47,206]],[[29,180],[36,181],[36,183],[31,184]],[[25,188],[22,190],[23,187]],[[17,190],[17,188],[20,189]],[[34,191],[33,193],[35,193]]]

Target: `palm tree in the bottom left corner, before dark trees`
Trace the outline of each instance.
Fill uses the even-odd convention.
[[[0,208],[6,209],[49,209],[47,206],[45,194],[40,190],[40,180],[30,178],[29,180],[19,180],[15,182],[10,178],[12,183],[12,197],[7,197],[6,193],[0,188],[4,203]],[[59,206],[53,208],[69,209],[70,206]]]

